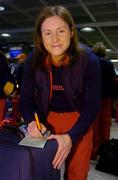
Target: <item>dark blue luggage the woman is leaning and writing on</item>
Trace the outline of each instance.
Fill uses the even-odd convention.
[[[57,142],[42,149],[19,146],[21,138],[17,130],[0,128],[0,180],[60,180],[60,170],[52,166]]]

